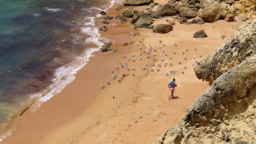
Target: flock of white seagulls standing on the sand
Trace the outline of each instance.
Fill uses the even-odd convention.
[[[140,51],[138,52],[138,58],[139,58],[139,60],[142,61],[142,60],[143,60],[143,57],[145,56],[146,58],[148,58],[148,59],[154,61],[151,66],[155,66],[155,67],[156,67],[156,68],[153,68],[153,67],[149,68],[150,72],[154,72],[155,69],[156,69],[157,71],[160,71],[160,68],[162,67],[162,65],[161,65],[161,63],[157,62],[157,58],[156,58],[157,49],[153,49],[152,45],[151,45],[151,44],[148,44],[148,49],[147,49],[147,51],[146,51],[146,49],[145,49],[145,47],[144,47],[144,44],[143,44],[143,42],[141,41],[141,39],[139,39],[139,41],[138,41],[136,44],[137,44],[138,48],[140,49]],[[178,47],[178,44],[175,42],[175,43],[174,43],[174,46],[175,46],[175,47]],[[165,47],[165,45],[163,44],[163,41],[159,40],[159,50],[161,50],[161,51],[163,52],[164,56],[168,56],[168,54],[166,53],[166,51],[164,51],[164,47]],[[194,47],[194,49],[195,49],[195,51],[197,51],[197,47],[196,47],[196,46]],[[185,54],[186,51],[189,51],[188,47],[186,47],[186,49],[182,50],[182,55],[184,56],[184,60],[187,60],[187,59],[188,59],[187,56],[186,56],[186,54]],[[174,52],[174,54],[177,54],[177,52],[176,52],[175,50],[174,50],[173,52]],[[200,52],[199,52],[199,54],[200,54],[200,58],[202,58],[202,54],[201,54]],[[135,61],[136,61],[136,60],[135,60],[135,57],[136,57],[136,56],[134,55],[134,53],[132,53],[131,56],[125,56],[125,55],[123,55],[124,60],[132,61],[132,62],[135,62]],[[193,55],[193,59],[194,59],[195,63],[197,63],[195,54]],[[169,60],[170,60],[169,62],[166,62],[166,61],[164,60],[164,58],[161,57],[161,61],[163,62],[163,67],[167,67],[167,65],[170,65],[170,66],[173,65],[173,63],[172,63],[172,57],[169,57]],[[179,65],[182,64],[180,60],[178,60],[178,63],[179,63]],[[124,64],[122,64],[122,63],[119,63],[119,64],[120,64],[120,67],[125,68],[126,70],[129,70],[129,71],[132,71],[132,72],[131,72],[132,76],[135,76],[134,71],[136,71],[136,69],[135,69],[134,67],[131,67],[131,68],[130,68],[130,67],[129,67],[129,63],[127,63],[127,61],[124,61]],[[192,66],[194,67],[195,64],[192,63]],[[118,65],[115,65],[115,70],[120,69],[120,67],[118,67]],[[142,66],[142,69],[143,69],[143,70],[146,70],[146,67],[148,67],[147,61],[146,61],[145,64]],[[184,68],[187,69],[187,66],[184,65]],[[127,75],[125,75],[124,72],[122,72],[122,73],[120,74],[120,77],[117,77],[115,70],[114,70],[113,68],[111,68],[112,77],[113,77],[113,79],[117,79],[117,81],[120,83],[120,82],[122,82],[122,80],[124,80],[124,77],[127,76]],[[166,72],[166,73],[165,73],[166,76],[169,76],[169,74],[170,74],[170,72]],[[184,70],[182,70],[182,74],[184,74]],[[110,84],[110,82],[109,82],[108,80],[107,80],[107,84]],[[105,88],[105,86],[104,86],[103,84],[100,84],[100,88],[103,89],[103,88]],[[113,99],[115,99],[115,94],[114,94],[114,93],[113,93]]]

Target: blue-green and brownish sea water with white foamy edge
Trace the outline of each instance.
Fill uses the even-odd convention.
[[[113,2],[0,0],[0,134],[75,79],[102,45],[95,18]]]

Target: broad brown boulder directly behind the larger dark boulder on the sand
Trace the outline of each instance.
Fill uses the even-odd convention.
[[[178,12],[177,8],[173,4],[164,4],[156,12],[152,13],[153,17],[165,17],[165,16],[173,16]]]

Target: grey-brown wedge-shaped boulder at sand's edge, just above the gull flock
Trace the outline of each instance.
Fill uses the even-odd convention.
[[[134,29],[136,28],[146,28],[150,26],[153,22],[153,17],[151,13],[143,12],[140,13],[139,19],[134,23]]]

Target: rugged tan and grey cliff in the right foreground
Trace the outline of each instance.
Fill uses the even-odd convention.
[[[256,19],[195,67],[211,86],[158,143],[255,143]]]

